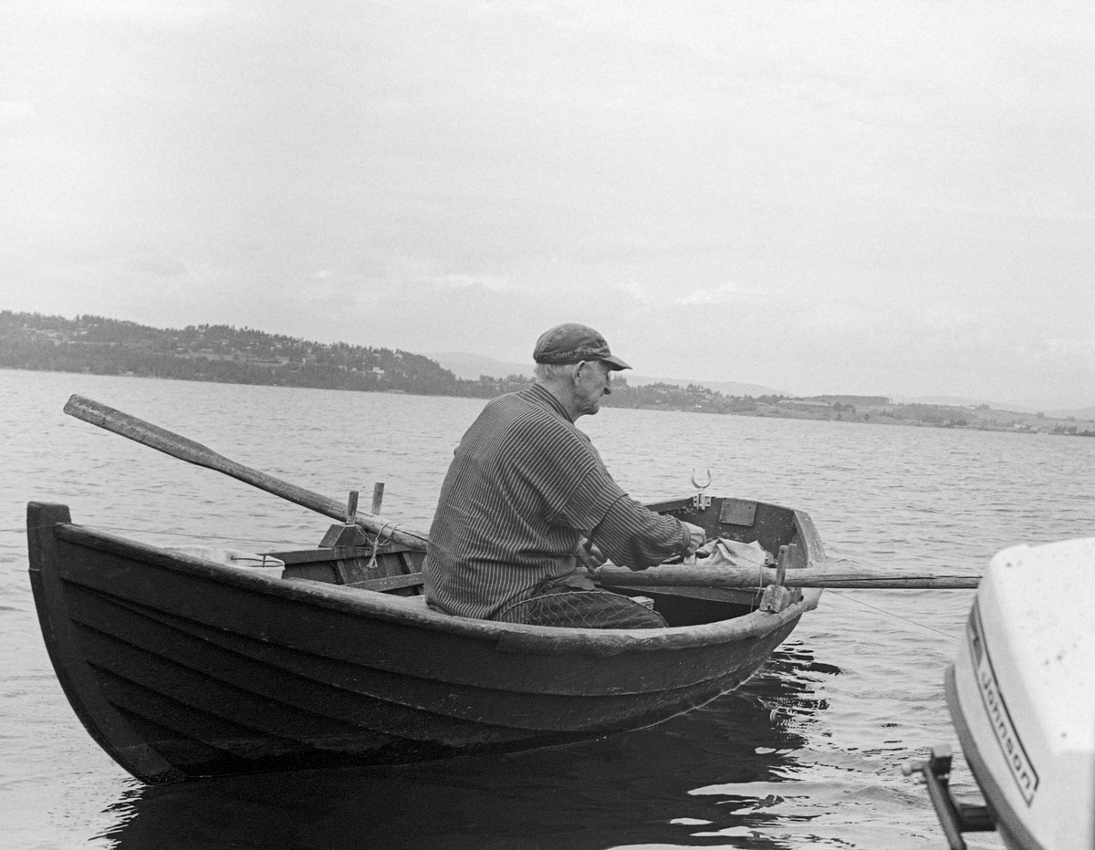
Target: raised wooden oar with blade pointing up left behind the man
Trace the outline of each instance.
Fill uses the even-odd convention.
[[[295,504],[308,508],[324,516],[330,516],[339,522],[346,522],[346,504],[326,496],[306,490],[295,484],[289,484],[273,475],[266,475],[257,469],[252,469],[235,461],[230,461],[223,455],[219,455],[211,449],[180,436],[166,429],[146,422],[137,417],[115,410],[99,401],[94,401],[83,396],[73,395],[65,405],[65,412],[91,422],[107,431],[128,436],[138,443],[155,449],[180,461],[204,466],[208,469],[216,469],[218,473],[237,478],[241,481],[265,490],[274,496],[280,496]],[[425,549],[427,536],[419,532],[404,528],[399,523],[385,520],[383,516],[370,513],[358,513],[354,517],[355,522],[366,531],[379,534],[383,539],[391,539],[394,543],[408,546],[413,549]]]

